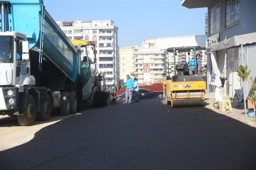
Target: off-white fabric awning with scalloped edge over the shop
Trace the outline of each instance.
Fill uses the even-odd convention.
[[[253,43],[256,43],[256,32],[243,35],[236,35],[230,39],[226,39],[224,41],[220,41],[219,43],[212,44],[211,51],[218,51],[228,49],[233,46],[240,46]]]

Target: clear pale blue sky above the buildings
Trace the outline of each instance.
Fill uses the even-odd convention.
[[[114,21],[120,48],[152,38],[205,34],[207,8],[188,9],[180,0],[44,0],[44,5],[55,21]]]

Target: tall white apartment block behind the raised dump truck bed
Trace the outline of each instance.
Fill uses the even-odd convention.
[[[56,21],[70,40],[94,41],[97,46],[97,70],[106,75],[106,86],[111,88],[118,81],[118,27],[111,20]],[[94,59],[92,49],[88,48],[89,58]],[[81,50],[85,55],[85,49]]]

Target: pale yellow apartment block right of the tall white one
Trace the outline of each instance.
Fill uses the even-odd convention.
[[[136,48],[123,47],[119,50],[119,82],[124,83],[126,81],[126,75],[129,74],[131,77],[131,73],[133,70],[133,56],[134,52],[138,51]]]

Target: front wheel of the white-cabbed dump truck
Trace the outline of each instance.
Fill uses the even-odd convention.
[[[18,115],[20,126],[29,126],[34,123],[36,117],[36,103],[32,95],[27,96],[27,101],[23,115]]]

